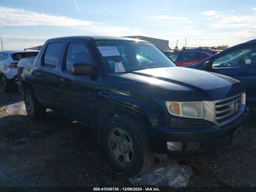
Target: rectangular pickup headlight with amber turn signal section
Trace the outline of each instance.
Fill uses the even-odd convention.
[[[202,102],[165,102],[170,114],[188,118],[203,118],[203,103]]]

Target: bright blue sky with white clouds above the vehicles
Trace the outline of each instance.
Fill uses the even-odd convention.
[[[76,35],[149,36],[176,46],[256,39],[255,0],[0,0],[4,50]]]

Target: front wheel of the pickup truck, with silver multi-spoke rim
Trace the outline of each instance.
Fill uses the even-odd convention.
[[[103,146],[112,166],[127,176],[142,174],[154,160],[143,127],[129,114],[110,118],[104,127]]]

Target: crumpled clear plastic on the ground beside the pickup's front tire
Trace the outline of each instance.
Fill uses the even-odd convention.
[[[193,170],[190,166],[177,163],[167,167],[162,167],[161,164],[154,164],[141,175],[130,177],[129,181],[133,185],[169,185],[174,188],[180,188],[188,184],[192,172]]]

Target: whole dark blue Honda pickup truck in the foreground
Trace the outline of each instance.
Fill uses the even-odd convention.
[[[28,115],[50,108],[98,131],[110,162],[141,174],[154,157],[198,158],[235,142],[248,110],[238,80],[177,67],[142,40],[72,36],[47,40],[20,60]]]

